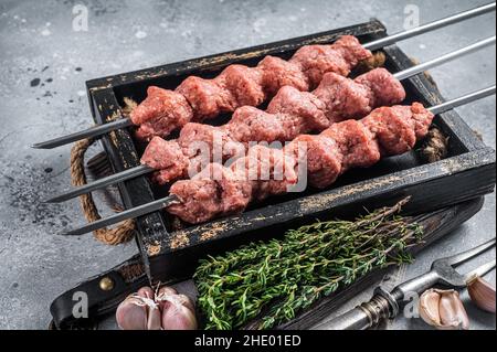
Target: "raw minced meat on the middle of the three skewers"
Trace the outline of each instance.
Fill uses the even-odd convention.
[[[251,142],[290,141],[302,134],[322,131],[334,122],[364,117],[376,107],[399,104],[404,98],[402,84],[384,68],[372,70],[356,79],[327,73],[311,93],[284,86],[266,111],[243,106],[226,125],[189,122],[176,140],[154,137],[141,163],[158,170],[152,179],[166,184],[201,171],[205,159],[213,161],[214,150],[221,150],[222,159],[215,161],[233,160],[245,154]],[[199,152],[202,149],[198,142],[209,147],[208,158]]]

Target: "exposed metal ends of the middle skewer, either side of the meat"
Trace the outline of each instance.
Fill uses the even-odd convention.
[[[473,52],[475,52],[475,51],[477,51],[479,49],[483,49],[485,46],[495,44],[495,42],[496,42],[496,36],[494,35],[493,38],[479,41],[479,42],[477,42],[475,44],[472,44],[469,46],[456,50],[456,51],[454,51],[452,53],[442,55],[440,57],[436,57],[434,60],[431,60],[431,61],[427,61],[425,63],[419,64],[419,65],[413,66],[411,68],[401,71],[401,72],[394,74],[393,76],[395,78],[398,78],[399,81],[410,78],[410,77],[415,76],[419,73],[422,73],[422,72],[424,72],[424,71],[426,71],[429,68],[435,67],[435,66],[441,65],[443,63],[446,63],[448,61],[452,61],[452,60],[455,60],[457,57],[461,57],[463,55],[473,53]],[[152,168],[150,168],[148,166],[138,166],[138,167],[135,167],[135,168],[131,168],[131,169],[127,169],[126,171],[123,171],[123,172],[119,172],[119,173],[115,173],[115,174],[106,177],[106,178],[102,178],[98,181],[95,181],[95,182],[92,182],[92,183],[88,183],[88,184],[85,184],[85,185],[82,185],[82,186],[78,186],[78,188],[74,188],[74,189],[72,189],[72,190],[70,190],[70,191],[67,191],[67,192],[65,192],[65,193],[63,193],[61,195],[57,195],[55,198],[52,198],[52,199],[47,200],[46,202],[47,203],[64,202],[64,201],[73,199],[73,198],[75,198],[77,195],[89,193],[92,191],[105,188],[105,186],[107,186],[109,184],[124,182],[126,180],[130,180],[130,179],[134,179],[136,177],[142,175],[142,174],[146,174],[146,173],[150,173],[150,172],[154,172],[154,171],[155,171],[155,169],[152,169]]]

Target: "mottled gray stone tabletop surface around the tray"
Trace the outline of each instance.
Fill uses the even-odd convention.
[[[77,201],[43,205],[68,185],[68,150],[32,150],[33,141],[89,124],[84,82],[103,75],[310,34],[376,17],[402,30],[404,6],[417,4],[427,22],[483,1],[0,1],[0,328],[44,329],[49,305],[62,291],[136,252],[91,236],[54,233],[83,222]],[[72,30],[72,9],[89,10],[88,32]],[[401,43],[429,60],[495,33],[495,14]],[[494,47],[432,71],[455,97],[495,82]],[[461,108],[495,148],[495,97]],[[419,256],[411,277],[438,256],[495,236],[495,194],[453,235]],[[495,256],[495,252],[490,254]],[[495,282],[495,274],[489,276]],[[348,306],[359,301],[359,297]],[[470,310],[473,327],[495,329],[495,318]],[[421,329],[399,319],[393,328]]]

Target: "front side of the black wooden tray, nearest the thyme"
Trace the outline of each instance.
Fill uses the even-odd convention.
[[[149,257],[150,266],[158,273],[156,280],[180,279],[182,275],[186,277],[191,274],[199,256],[229,250],[240,245],[242,239],[246,243],[267,238],[265,234],[281,232],[282,224],[298,226],[313,218],[336,216],[341,214],[342,209],[360,212],[363,207],[374,209],[406,195],[412,195],[405,206],[406,213],[419,213],[420,210],[430,212],[490,193],[494,184],[495,152],[482,149],[451,160],[218,220],[188,232],[173,233],[181,237],[178,247],[170,252],[161,248],[160,254]],[[455,195],[454,190],[457,190]]]

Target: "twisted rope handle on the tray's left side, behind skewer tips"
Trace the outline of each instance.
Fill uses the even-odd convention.
[[[95,139],[83,139],[74,143],[71,149],[71,183],[74,186],[86,184],[85,153]],[[80,203],[86,221],[92,223],[102,216],[91,193],[80,195]],[[129,242],[135,235],[135,221],[126,220],[113,228],[98,228],[93,232],[95,238],[107,245],[118,245]]]

